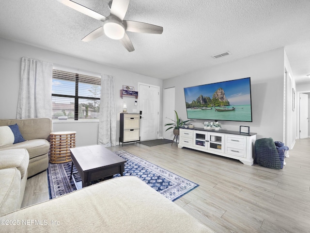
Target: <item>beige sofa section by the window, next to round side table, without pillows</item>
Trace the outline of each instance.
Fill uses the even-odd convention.
[[[53,132],[52,120],[50,118],[0,119],[0,127],[14,124],[18,125],[19,131],[26,141],[0,146],[0,150],[27,149],[29,153],[28,177],[46,170],[48,166],[49,134]]]

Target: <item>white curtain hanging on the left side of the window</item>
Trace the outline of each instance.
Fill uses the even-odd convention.
[[[16,119],[52,117],[53,64],[23,57]]]

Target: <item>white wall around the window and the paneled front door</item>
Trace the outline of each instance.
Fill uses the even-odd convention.
[[[72,56],[67,56],[61,53],[56,53],[48,50],[39,49],[29,45],[16,43],[13,41],[0,38],[0,118],[1,119],[15,119],[16,108],[19,90],[20,79],[20,62],[21,57],[31,57],[38,60],[51,62],[54,64],[79,68],[82,70],[93,71],[101,74],[109,74],[115,77],[115,101],[116,112],[122,112],[123,101],[127,103],[128,112],[137,109],[134,106],[135,98],[124,97],[120,98],[120,90],[123,85],[134,86],[138,90],[138,83],[147,83],[160,86],[161,96],[163,93],[162,80],[140,75],[137,73],[117,69],[114,67],[105,66],[91,61],[79,59]],[[162,101],[162,98],[161,98]],[[160,103],[162,106],[162,102]],[[139,109],[137,109],[139,111]],[[160,115],[160,124],[162,124],[162,111]],[[119,138],[119,119],[117,123],[117,141]],[[54,123],[54,131],[76,131],[77,132],[77,146],[97,144],[98,123]],[[159,132],[162,136],[162,129]]]

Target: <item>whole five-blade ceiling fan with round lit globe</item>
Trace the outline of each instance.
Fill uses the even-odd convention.
[[[105,17],[85,6],[82,6],[72,0],[58,0],[62,4],[83,13],[89,17],[93,17],[103,22],[103,26],[97,28],[93,32],[86,35],[82,41],[89,42],[99,36],[106,34],[109,38],[120,40],[123,46],[129,51],[134,51],[134,47],[129,39],[127,32],[134,33],[154,33],[161,34],[163,27],[149,23],[124,20],[130,0],[113,0],[109,2],[110,15]]]

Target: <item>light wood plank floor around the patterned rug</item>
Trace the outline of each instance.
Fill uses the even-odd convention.
[[[217,233],[310,232],[310,139],[296,141],[286,166],[275,170],[175,143],[126,150],[200,186],[174,201]],[[28,180],[23,206],[48,200],[47,172]]]

